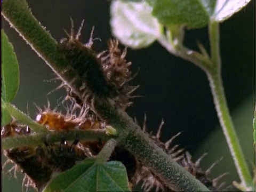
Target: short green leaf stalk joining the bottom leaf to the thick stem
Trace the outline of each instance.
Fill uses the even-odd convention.
[[[100,164],[106,163],[115,150],[116,144],[117,141],[115,139],[109,139],[97,155],[96,162]]]

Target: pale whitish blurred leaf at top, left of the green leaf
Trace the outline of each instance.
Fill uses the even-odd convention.
[[[162,27],[146,2],[113,1],[110,6],[112,33],[133,49],[147,47],[161,35]]]

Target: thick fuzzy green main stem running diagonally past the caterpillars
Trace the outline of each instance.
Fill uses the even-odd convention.
[[[57,51],[57,44],[54,39],[38,24],[38,21],[31,14],[27,3],[22,0],[4,1],[2,4],[2,14],[29,45],[33,47],[38,55],[46,61],[47,65],[51,66],[62,81],[67,83],[80,99],[84,99],[83,92],[77,89],[79,86],[76,86],[76,84],[82,84],[82,82],[80,82],[81,79],[75,79],[75,81],[73,81],[75,83],[70,85],[69,82],[74,80],[74,74],[61,73],[61,71],[67,67],[68,62]],[[145,153],[147,153],[148,158],[142,158],[142,163],[148,165],[149,169],[156,171],[158,177],[161,178],[167,186],[181,191],[209,191],[201,182],[174,162],[162,149],[157,147],[155,143],[149,139],[148,135],[143,133],[140,127],[134,123],[132,118],[124,111],[116,109],[108,101],[99,98],[94,98],[94,108],[103,119],[106,119],[106,122],[117,130],[117,132],[122,129],[129,133],[126,134],[127,139],[124,145],[127,149],[131,150],[131,153],[142,158],[144,154],[143,150],[146,150]],[[136,150],[133,147],[135,145],[132,145],[129,148],[129,143],[133,142],[138,142],[141,145],[144,143],[142,146],[145,146],[145,143],[147,143],[149,147]],[[153,155],[154,153],[156,153],[156,155]],[[161,163],[161,165],[158,165],[159,163]],[[178,179],[180,180],[178,181]]]

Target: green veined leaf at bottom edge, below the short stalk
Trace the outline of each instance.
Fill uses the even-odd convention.
[[[130,191],[125,166],[120,162],[95,163],[86,159],[67,170],[45,187],[51,191]]]

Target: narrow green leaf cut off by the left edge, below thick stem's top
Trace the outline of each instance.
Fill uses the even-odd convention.
[[[19,65],[13,46],[8,37],[1,30],[2,39],[2,94],[6,102],[11,102],[19,90]]]

